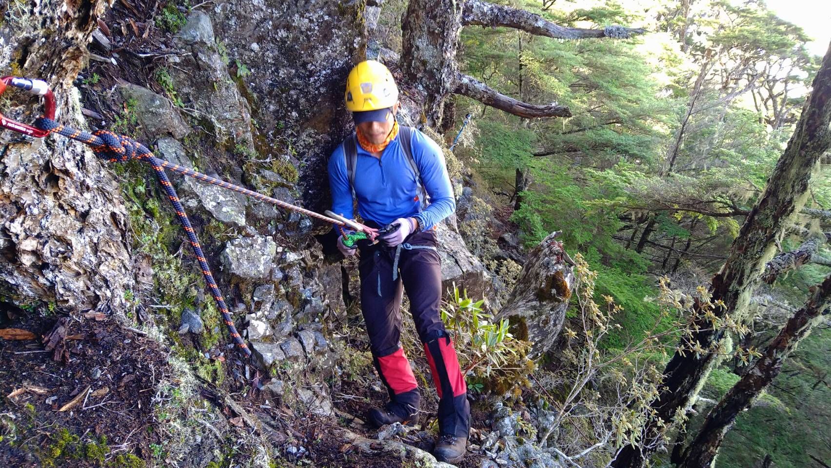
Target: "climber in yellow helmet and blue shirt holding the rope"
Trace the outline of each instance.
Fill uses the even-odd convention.
[[[332,211],[352,218],[355,200],[364,224],[397,228],[380,234],[376,244],[358,244],[361,309],[372,360],[390,396],[384,408],[369,412],[368,419],[375,426],[417,420],[420,392],[399,341],[403,288],[439,394],[440,433],[434,454],[440,461],[458,461],[467,446],[470,404],[439,311],[441,262],[434,228],[455,210],[445,158],[430,137],[398,125],[398,88],[380,62],[352,68],[346,102],[356,132],[329,160]],[[356,248],[342,239],[337,241],[342,254],[356,254]]]

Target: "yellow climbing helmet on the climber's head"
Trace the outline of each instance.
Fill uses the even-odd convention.
[[[383,63],[367,60],[349,72],[344,98],[352,112],[377,111],[398,102],[398,86]]]

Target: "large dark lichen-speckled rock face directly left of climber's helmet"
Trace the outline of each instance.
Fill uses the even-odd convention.
[[[230,0],[209,10],[232,63],[251,72],[238,85],[252,96],[263,135],[258,157],[276,161],[302,194],[301,204],[316,211],[326,204],[327,158],[350,131],[343,86],[366,47],[363,8],[363,2]]]

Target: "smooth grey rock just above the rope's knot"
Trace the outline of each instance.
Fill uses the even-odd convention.
[[[150,138],[172,135],[179,139],[190,132],[170,99],[143,87],[126,83],[118,86],[121,96],[138,118],[141,129]]]

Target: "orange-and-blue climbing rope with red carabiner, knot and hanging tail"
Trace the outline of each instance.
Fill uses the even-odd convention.
[[[208,182],[209,184],[219,185],[219,187],[224,189],[234,190],[235,192],[251,196],[257,200],[263,200],[268,203],[276,204],[284,209],[291,209],[293,211],[297,211],[298,213],[307,214],[312,218],[321,219],[327,223],[336,224],[337,226],[347,226],[350,229],[356,230],[356,233],[351,234],[353,236],[355,234],[362,234],[363,239],[375,240],[376,238],[375,230],[370,229],[363,224],[356,223],[350,219],[343,219],[342,217],[335,219],[330,216],[317,214],[314,211],[304,209],[297,205],[258,194],[253,190],[229,184],[224,180],[219,180],[209,175],[204,175],[194,170],[190,170],[186,167],[170,164],[170,162],[165,160],[160,160],[155,157],[155,155],[153,155],[153,153],[148,150],[145,145],[133,140],[129,136],[116,135],[115,133],[106,130],[97,130],[89,133],[87,131],[80,131],[68,126],[63,126],[54,120],[55,96],[52,94],[52,90],[49,89],[49,85],[46,81],[30,80],[15,76],[3,76],[0,78],[0,95],[6,91],[7,86],[13,86],[37,96],[44,96],[45,113],[35,121],[35,126],[27,126],[26,124],[13,121],[0,114],[0,126],[3,128],[36,138],[43,138],[54,132],[59,135],[66,136],[67,138],[71,138],[72,140],[81,141],[81,143],[89,145],[92,148],[92,151],[103,160],[107,160],[109,162],[125,162],[131,159],[136,159],[149,163],[150,166],[153,167],[162,189],[165,190],[168,199],[170,199],[170,203],[173,204],[176,212],[176,218],[179,219],[179,224],[182,225],[184,234],[187,236],[191,247],[194,249],[196,259],[199,261],[199,267],[202,268],[202,275],[204,276],[205,283],[208,284],[211,295],[214,297],[214,300],[219,306],[219,313],[222,314],[225,326],[228,328],[234,343],[236,343],[236,345],[242,349],[243,352],[245,352],[246,356],[251,356],[251,350],[248,349],[248,345],[243,342],[243,338],[239,336],[237,328],[234,327],[234,320],[231,318],[228,306],[225,304],[225,299],[219,291],[219,286],[214,280],[214,274],[210,271],[208,261],[205,259],[202,247],[199,245],[199,239],[196,237],[194,228],[190,224],[188,215],[184,212],[184,207],[179,202],[179,195],[176,194],[176,190],[170,183],[170,179],[168,179],[167,174],[165,174],[165,169],[193,177],[197,180]],[[332,212],[327,212],[327,214],[332,214]]]

